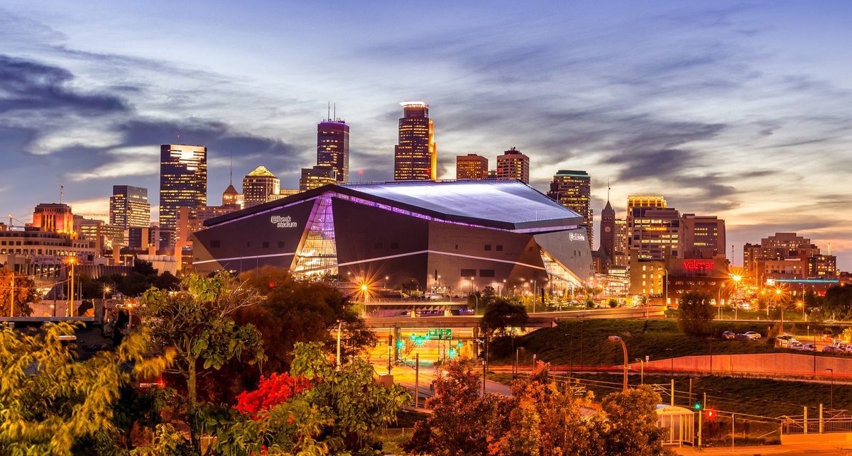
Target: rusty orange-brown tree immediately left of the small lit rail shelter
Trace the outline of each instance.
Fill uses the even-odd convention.
[[[601,405],[608,426],[603,435],[602,453],[613,456],[673,454],[663,447],[663,430],[657,425],[656,408],[660,401],[659,394],[648,385],[604,397]]]

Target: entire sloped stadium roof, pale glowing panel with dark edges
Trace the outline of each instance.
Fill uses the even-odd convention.
[[[518,180],[409,180],[325,185],[210,219],[204,225],[266,212],[328,191],[435,219],[504,230],[564,229],[583,223],[579,214]]]

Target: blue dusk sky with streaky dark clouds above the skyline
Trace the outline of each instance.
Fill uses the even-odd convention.
[[[797,231],[852,269],[852,3],[18,2],[0,7],[0,210],[157,202],[158,145],[208,145],[209,195],[258,165],[296,186],[328,100],[358,179],[392,177],[403,100],[431,105],[439,176],[516,146],[596,214],[659,193],[728,244]],[[619,214],[621,215],[621,214]]]

